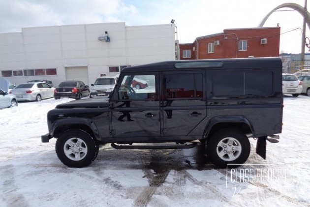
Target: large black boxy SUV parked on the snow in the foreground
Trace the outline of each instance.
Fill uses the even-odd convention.
[[[135,90],[134,79],[148,88]],[[248,159],[249,138],[265,159],[266,140],[282,130],[279,58],[169,61],[122,70],[109,100],[59,104],[47,114],[56,153],[69,167],[86,167],[100,144],[116,149],[170,149],[205,145],[221,168]],[[142,144],[143,143],[143,144]]]

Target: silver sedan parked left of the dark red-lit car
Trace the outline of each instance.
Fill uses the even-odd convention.
[[[10,91],[17,101],[41,101],[54,97],[54,89],[44,82],[22,83]]]

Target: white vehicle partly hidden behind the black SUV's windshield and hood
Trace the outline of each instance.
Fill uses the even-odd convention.
[[[94,84],[91,84],[90,98],[97,96],[108,96],[113,91],[114,86],[117,82],[118,75],[103,76],[96,79]]]

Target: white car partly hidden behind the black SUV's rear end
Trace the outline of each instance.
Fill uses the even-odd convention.
[[[282,93],[291,94],[293,97],[298,97],[302,92],[302,82],[294,74],[282,74]]]

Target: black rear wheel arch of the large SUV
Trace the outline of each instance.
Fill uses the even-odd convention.
[[[243,116],[217,116],[207,123],[204,138],[208,141],[217,131],[227,128],[238,129],[246,135],[255,137],[253,127],[247,118]]]

